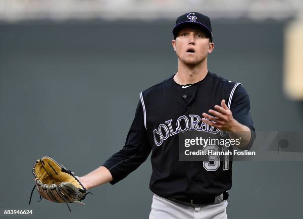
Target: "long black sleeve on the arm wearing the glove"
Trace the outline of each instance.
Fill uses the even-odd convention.
[[[151,153],[151,145],[144,126],[144,112],[141,101],[136,109],[135,118],[129,129],[124,147],[112,155],[102,166],[111,173],[115,184],[137,169]]]

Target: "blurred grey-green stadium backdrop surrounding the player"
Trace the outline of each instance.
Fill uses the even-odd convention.
[[[1,210],[148,218],[150,158],[72,214],[45,200],[27,205],[31,165],[50,155],[82,175],[120,150],[139,92],[177,70],[171,31],[189,11],[211,18],[209,70],[244,85],[256,130],[302,130],[302,0],[0,0],[0,170],[6,178],[14,169],[0,187],[16,188],[0,191]],[[234,162],[228,217],[301,218],[302,167]]]

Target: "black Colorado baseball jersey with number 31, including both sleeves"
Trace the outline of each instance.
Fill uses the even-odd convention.
[[[214,168],[202,161],[179,161],[178,136],[186,131],[216,132],[202,122],[202,113],[221,106],[224,99],[233,117],[251,129],[252,145],[255,134],[249,96],[240,83],[209,71],[202,81],[186,86],[177,84],[173,76],[140,93],[125,146],[103,166],[113,177],[110,183],[115,184],[145,162],[152,151],[153,193],[176,199],[219,195],[232,186],[232,162]]]

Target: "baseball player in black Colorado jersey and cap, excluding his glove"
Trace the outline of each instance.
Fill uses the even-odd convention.
[[[91,189],[125,178],[152,152],[150,219],[226,219],[232,162],[179,161],[180,133],[227,132],[249,149],[255,138],[250,99],[240,83],[207,69],[214,43],[207,16],[189,12],[176,20],[172,46],[178,71],[140,93],[125,146],[102,166],[79,177]]]

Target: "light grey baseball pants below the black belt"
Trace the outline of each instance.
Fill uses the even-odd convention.
[[[224,200],[217,204],[190,207],[154,194],[150,219],[227,219],[227,204]]]

